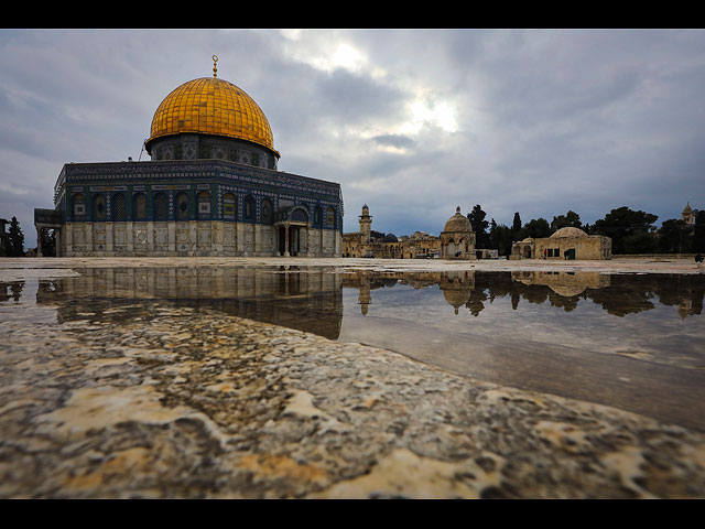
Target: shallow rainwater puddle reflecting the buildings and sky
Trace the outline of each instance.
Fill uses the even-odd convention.
[[[217,310],[389,348],[478,379],[705,431],[705,276],[83,269],[0,283],[0,321],[149,321]]]

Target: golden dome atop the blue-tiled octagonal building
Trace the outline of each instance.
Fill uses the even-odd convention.
[[[195,132],[247,140],[274,150],[267,116],[245,90],[217,77],[200,77],[175,88],[152,119],[150,139]]]

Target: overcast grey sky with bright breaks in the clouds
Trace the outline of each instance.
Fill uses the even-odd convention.
[[[345,231],[705,208],[699,30],[0,30],[0,217],[35,246],[67,162],[141,153],[154,110],[213,75],[267,115],[279,169],[340,183]]]

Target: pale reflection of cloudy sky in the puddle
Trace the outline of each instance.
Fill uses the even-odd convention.
[[[433,335],[478,337],[497,344],[511,338],[581,348],[594,353],[619,353],[634,358],[662,363],[705,366],[705,315],[682,319],[679,307],[651,299],[653,309],[616,316],[589,299],[578,299],[576,307],[566,312],[547,300],[532,303],[521,299],[512,309],[510,295],[482,300],[484,309],[474,315],[465,304],[454,307],[438,285],[414,289],[398,283],[372,290],[368,313],[362,316],[357,289],[344,289],[341,339],[355,341],[359,327],[371,320],[383,322],[393,336],[395,325],[423,326]],[[473,291],[473,296],[481,293]],[[458,338],[460,339],[460,338]],[[437,339],[436,339],[437,342]],[[423,347],[426,344],[420,343]]]

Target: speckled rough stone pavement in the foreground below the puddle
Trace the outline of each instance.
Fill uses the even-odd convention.
[[[0,305],[1,498],[699,498],[705,435],[154,300]]]

